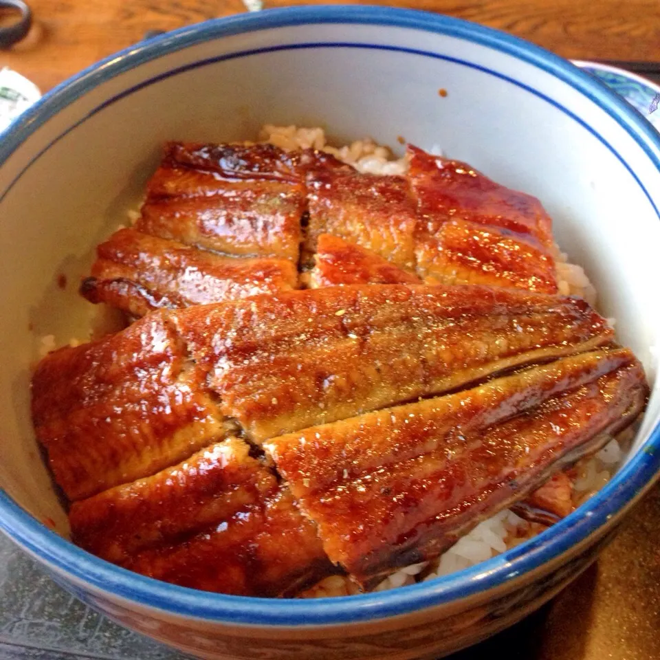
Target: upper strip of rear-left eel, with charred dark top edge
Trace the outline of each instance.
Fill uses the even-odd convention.
[[[169,142],[135,228],[214,252],[297,264],[305,175],[347,168],[311,149]]]

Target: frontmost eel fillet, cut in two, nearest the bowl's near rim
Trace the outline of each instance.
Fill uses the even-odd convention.
[[[336,572],[324,549],[369,587],[597,450],[645,398],[630,351],[585,353],[272,439],[306,516],[232,437],[74,503],[72,534],[121,566],[208,591],[289,595]]]

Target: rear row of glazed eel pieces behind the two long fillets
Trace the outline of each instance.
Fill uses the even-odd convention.
[[[409,154],[407,177],[377,176],[313,150],[170,142],[135,229],[99,246],[81,293],[136,317],[286,290],[303,239],[303,263],[317,253],[316,287],[335,284],[340,268],[344,284],[369,274],[557,291],[551,221],[536,198],[464,163]],[[329,242],[342,239],[355,245]]]

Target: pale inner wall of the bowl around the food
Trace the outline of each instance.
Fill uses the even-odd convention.
[[[43,336],[57,345],[87,338],[99,313],[78,297],[78,278],[94,245],[139,203],[169,139],[250,139],[270,122],[324,126],[338,143],[369,135],[395,151],[398,136],[440,146],[542,200],[562,250],[595,283],[599,311],[616,318],[621,343],[655,382],[657,148],[555,76],[553,67],[566,65],[550,56],[540,64],[514,40],[507,50],[462,23],[444,23],[443,34],[424,20],[266,18],[249,32],[231,21],[184,30],[56,91],[5,136],[0,486],[17,503],[67,535],[32,433],[30,364]],[[635,451],[657,423],[657,390]]]

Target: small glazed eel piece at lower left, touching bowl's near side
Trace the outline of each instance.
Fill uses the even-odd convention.
[[[74,502],[69,522],[91,553],[206,591],[289,595],[336,571],[314,523],[236,437]]]

